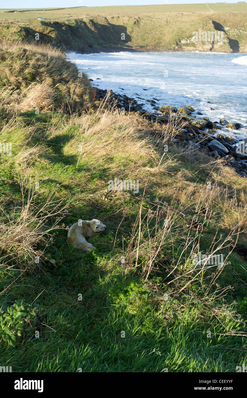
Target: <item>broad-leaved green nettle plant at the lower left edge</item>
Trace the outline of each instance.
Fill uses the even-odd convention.
[[[0,308],[0,341],[3,339],[13,347],[16,346],[16,335],[21,336],[24,325],[36,315],[37,309],[26,304],[23,300],[17,300],[7,308]]]

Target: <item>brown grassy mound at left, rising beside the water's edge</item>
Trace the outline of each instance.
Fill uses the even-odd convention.
[[[38,83],[38,86],[36,85]],[[39,92],[37,94],[37,88]],[[41,91],[40,91],[41,90]],[[2,103],[11,109],[30,109],[30,101],[45,90],[50,93],[49,103],[36,98],[40,110],[46,107],[74,111],[86,107],[92,100],[92,89],[86,75],[78,77],[74,64],[64,54],[51,47],[35,44],[2,45],[0,47],[0,93]],[[46,96],[47,97],[47,96]]]

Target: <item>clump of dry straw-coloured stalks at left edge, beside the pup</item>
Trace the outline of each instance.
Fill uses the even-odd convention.
[[[58,224],[63,218],[65,207],[62,200],[54,199],[55,189],[43,203],[37,205],[37,185],[31,176],[20,174],[19,185],[22,205],[16,204],[11,214],[0,206],[1,265],[6,267],[8,263],[15,263],[25,270],[34,265],[35,259],[39,259],[36,264],[41,265],[54,230],[62,228]],[[54,217],[56,220],[51,221]]]

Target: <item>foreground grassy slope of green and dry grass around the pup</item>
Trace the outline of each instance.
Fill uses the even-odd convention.
[[[23,299],[37,306],[16,347],[0,341],[1,365],[228,372],[246,363],[247,262],[229,254],[235,228],[246,244],[245,179],[169,141],[164,154],[163,140],[150,135],[161,126],[107,109],[79,116],[4,111],[0,128],[0,141],[12,142],[12,156],[0,158],[1,305],[6,311]],[[115,177],[138,179],[140,192],[114,192],[105,201]],[[89,240],[97,250],[74,250],[66,226],[93,217],[107,224]],[[197,268],[196,276],[191,250],[210,253],[212,242],[229,256],[225,266]]]

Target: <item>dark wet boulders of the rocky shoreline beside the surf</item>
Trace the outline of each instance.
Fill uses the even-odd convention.
[[[173,143],[188,150],[199,150],[213,158],[220,158],[226,165],[234,168],[240,176],[247,178],[247,139],[236,139],[228,134],[224,137],[220,133],[224,127],[233,130],[241,129],[244,127],[241,123],[228,123],[225,119],[220,119],[219,122],[210,121],[208,117],[203,117],[202,113],[189,105],[178,109],[170,105],[157,108],[157,98],[148,100],[154,109],[154,112],[150,113],[143,109],[143,104],[138,104],[136,100],[125,94],[115,94],[112,90],[107,92],[98,88],[95,104],[97,105],[97,102],[106,96],[109,105],[114,104],[125,113],[138,114],[150,123],[159,123],[164,126],[168,122],[174,123],[177,133],[174,133]],[[165,144],[165,132],[157,138],[164,140]]]

